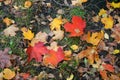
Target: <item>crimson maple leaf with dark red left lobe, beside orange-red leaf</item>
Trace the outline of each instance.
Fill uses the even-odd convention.
[[[29,46],[26,50],[26,53],[28,55],[28,62],[30,62],[33,58],[35,58],[37,62],[41,62],[42,55],[48,53],[48,50],[44,46],[43,42],[38,42],[35,43],[33,47]]]

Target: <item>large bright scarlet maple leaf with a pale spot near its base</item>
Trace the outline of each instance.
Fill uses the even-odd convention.
[[[72,17],[72,23],[67,22],[64,28],[70,33],[70,37],[81,36],[84,33],[86,22],[79,16]]]

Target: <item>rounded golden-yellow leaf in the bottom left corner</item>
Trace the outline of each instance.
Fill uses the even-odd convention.
[[[12,79],[13,77],[15,77],[15,72],[11,71],[10,69],[6,68],[3,71],[3,77],[5,79]]]

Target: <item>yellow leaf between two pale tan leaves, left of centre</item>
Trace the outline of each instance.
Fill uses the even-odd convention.
[[[24,39],[28,39],[28,40],[32,40],[32,39],[33,39],[34,33],[32,33],[31,30],[23,27],[23,28],[21,29],[21,31],[23,32]]]

